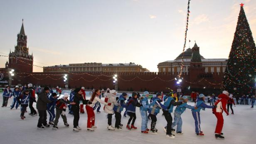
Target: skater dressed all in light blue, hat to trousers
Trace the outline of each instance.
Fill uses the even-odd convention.
[[[150,105],[148,103],[148,91],[145,91],[143,93],[143,96],[140,98],[140,116],[141,116],[141,132],[148,134],[148,110],[150,108]]]

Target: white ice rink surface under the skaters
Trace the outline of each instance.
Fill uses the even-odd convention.
[[[0,93],[2,95],[2,93]],[[87,98],[87,97],[86,97]],[[104,99],[104,98],[103,98]],[[20,107],[18,110],[10,110],[10,105],[13,98],[8,101],[7,107],[0,107],[0,144],[60,144],[60,143],[76,143],[76,144],[146,144],[146,143],[158,143],[158,144],[255,144],[256,143],[256,107],[250,108],[250,105],[238,105],[233,106],[235,115],[224,115],[224,140],[215,139],[214,130],[217,119],[212,114],[211,109],[201,111],[201,128],[204,132],[204,136],[197,136],[194,132],[194,119],[191,114],[191,110],[186,110],[182,114],[182,131],[184,134],[175,134],[175,139],[165,137],[165,132],[162,127],[166,125],[165,118],[162,116],[162,112],[158,114],[157,125],[158,134],[142,134],[140,132],[141,117],[139,108],[136,108],[137,119],[135,126],[137,130],[131,130],[125,128],[129,117],[123,117],[121,123],[124,125],[124,129],[121,131],[109,131],[107,130],[106,113],[103,112],[103,105],[101,107],[101,113],[96,115],[96,126],[98,127],[95,132],[87,132],[87,114],[81,114],[79,120],[79,126],[82,128],[80,132],[73,132],[73,116],[67,114],[67,120],[70,127],[64,127],[62,118],[59,119],[59,129],[53,130],[52,128],[46,128],[45,130],[37,130],[37,121],[39,116],[31,117],[28,115],[30,109],[27,108],[27,117],[25,120],[20,119]],[[0,98],[2,104],[2,98]],[[193,103],[188,103],[194,105]],[[34,103],[34,107],[36,104]],[[231,113],[231,112],[230,112]],[[173,116],[173,115],[172,115]],[[47,122],[49,120],[49,114],[47,113]],[[148,127],[150,128],[150,120]],[[113,116],[112,125],[114,125],[115,119]],[[176,127],[175,127],[176,129]]]

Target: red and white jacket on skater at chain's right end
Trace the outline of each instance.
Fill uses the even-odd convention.
[[[213,112],[221,112],[223,113],[226,112],[226,114],[228,114],[227,110],[226,110],[226,103],[227,103],[227,100],[229,99],[229,97],[223,93],[221,93],[219,96],[218,96],[218,100],[214,103],[214,105],[216,107],[213,108]]]

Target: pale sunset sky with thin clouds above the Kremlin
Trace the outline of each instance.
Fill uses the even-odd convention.
[[[241,2],[255,38],[256,0],[191,0],[190,47],[197,41],[204,58],[227,59]],[[134,62],[158,71],[182,53],[186,11],[187,0],[1,0],[0,52],[14,51],[24,19],[35,65]]]

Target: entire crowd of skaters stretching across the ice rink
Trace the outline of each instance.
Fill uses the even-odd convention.
[[[192,92],[191,98],[194,101],[195,105],[191,106],[187,104],[188,97],[180,96],[177,98],[176,92],[171,92],[163,96],[163,93],[156,93],[153,95],[153,98],[149,102],[149,92],[145,91],[143,95],[139,93],[132,93],[132,96],[128,98],[127,93],[122,93],[117,97],[116,90],[110,90],[109,88],[104,92],[103,90],[93,90],[93,93],[89,99],[86,99],[85,88],[76,88],[71,90],[71,93],[64,93],[60,98],[62,90],[57,87],[56,93],[53,92],[52,88],[44,87],[43,89],[39,86],[34,88],[31,83],[27,86],[24,85],[19,87],[18,85],[12,91],[10,86],[4,89],[3,92],[3,103],[2,107],[7,107],[8,99],[13,96],[13,103],[10,109],[17,109],[21,107],[20,118],[25,120],[25,112],[27,112],[27,107],[30,108],[29,115],[36,116],[37,112],[39,113],[39,120],[37,123],[37,129],[45,129],[45,127],[51,127],[52,129],[58,129],[59,117],[62,117],[64,125],[69,127],[66,118],[66,110],[69,110],[69,114],[74,115],[73,120],[73,131],[79,132],[81,127],[79,127],[79,117],[80,113],[84,113],[84,105],[87,112],[87,130],[94,131],[97,127],[95,125],[95,113],[100,113],[101,104],[104,105],[103,110],[107,114],[107,128],[108,130],[121,130],[123,124],[121,124],[121,112],[125,111],[123,116],[127,115],[130,117],[126,129],[138,129],[135,127],[136,120],[136,107],[139,107],[141,121],[141,133],[158,133],[156,129],[157,124],[157,115],[162,110],[163,115],[166,120],[166,127],[164,130],[166,132],[166,137],[175,138],[175,135],[172,133],[175,131],[174,127],[177,126],[176,133],[183,134],[182,132],[182,114],[185,110],[191,109],[192,116],[194,118],[195,132],[198,136],[203,136],[204,133],[200,127],[200,111],[205,108],[212,109],[212,113],[217,117],[217,125],[215,128],[215,137],[216,139],[224,139],[222,133],[222,127],[224,124],[224,119],[222,113],[225,112],[226,115],[229,115],[229,107],[231,109],[231,114],[234,114],[232,105],[235,106],[233,95],[229,94],[227,91],[223,91],[216,98],[214,94],[208,95],[208,103],[205,103],[206,97],[204,94],[199,94]],[[37,94],[37,98],[36,98]],[[58,96],[59,94],[59,96]],[[105,97],[105,100],[101,100],[101,96]],[[245,98],[246,97],[242,97]],[[241,98],[241,100],[242,100]],[[249,100],[249,99],[248,99]],[[248,100],[246,104],[248,104]],[[252,107],[255,102],[255,96],[251,98]],[[33,103],[36,103],[37,111],[33,107]],[[241,101],[242,103],[242,101]],[[237,103],[238,104],[238,103]],[[226,109],[227,105],[227,109]],[[176,106],[174,110],[174,106]],[[124,110],[125,109],[125,110]],[[174,111],[174,122],[172,122],[171,113]],[[47,112],[49,113],[49,122],[47,123]],[[112,116],[115,115],[116,122],[114,126],[112,125]],[[148,120],[151,120],[150,127],[148,127]]]

